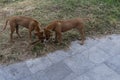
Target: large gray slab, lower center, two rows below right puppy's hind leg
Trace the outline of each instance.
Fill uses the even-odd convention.
[[[77,75],[81,75],[95,66],[93,62],[89,60],[89,56],[85,54],[77,54],[72,56],[64,62],[75,72]]]

